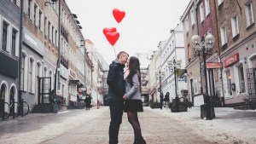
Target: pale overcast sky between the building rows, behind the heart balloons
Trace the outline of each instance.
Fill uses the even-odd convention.
[[[73,14],[77,14],[85,39],[90,39],[103,58],[114,59],[113,46],[102,30],[115,27],[119,40],[114,47],[118,53],[156,50],[160,41],[170,37],[170,29],[180,23],[180,17],[189,0],[66,0]],[[118,23],[113,9],[125,11],[125,18]]]

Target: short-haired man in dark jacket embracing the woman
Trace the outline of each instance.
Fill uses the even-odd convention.
[[[119,52],[117,60],[109,66],[108,71],[108,104],[110,108],[109,144],[117,144],[119,127],[122,123],[125,95],[124,67],[129,55],[125,51]]]

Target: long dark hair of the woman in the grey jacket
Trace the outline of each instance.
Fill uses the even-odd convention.
[[[139,80],[139,83],[140,83],[140,90],[142,92],[140,61],[137,59],[137,57],[135,57],[135,56],[130,57],[128,68],[129,68],[129,71],[130,71],[130,73],[127,77],[128,83],[132,85],[132,77],[134,76],[134,74],[136,74],[138,72],[139,73],[138,74],[138,80]]]

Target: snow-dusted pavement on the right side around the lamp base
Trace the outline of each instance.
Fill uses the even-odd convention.
[[[215,107],[216,118],[201,119],[200,107],[189,108],[188,112],[171,112],[168,108],[148,109],[163,116],[176,119],[198,135],[219,144],[255,144],[256,111],[234,110],[230,107]]]

